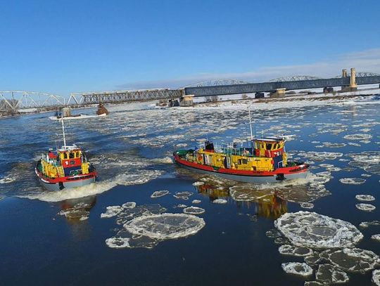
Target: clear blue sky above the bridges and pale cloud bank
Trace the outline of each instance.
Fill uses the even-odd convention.
[[[379,0],[0,0],[0,90],[177,87],[328,63],[379,49],[379,17]]]

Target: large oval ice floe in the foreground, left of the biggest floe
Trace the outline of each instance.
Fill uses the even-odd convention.
[[[157,240],[184,238],[198,233],[205,221],[191,214],[151,214],[125,223],[125,230]]]

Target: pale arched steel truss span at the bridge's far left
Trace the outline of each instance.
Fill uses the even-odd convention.
[[[71,99],[71,98],[70,98]],[[35,91],[0,91],[0,111],[15,112],[28,108],[49,108],[66,105],[67,98]]]

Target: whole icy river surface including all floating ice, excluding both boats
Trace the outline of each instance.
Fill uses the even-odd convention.
[[[208,138],[247,138],[248,100],[67,122],[99,181],[51,193],[34,164],[62,144],[59,123],[0,119],[0,285],[379,285],[379,103],[253,103],[257,133],[289,135],[289,157],[311,166],[260,186],[172,163]]]

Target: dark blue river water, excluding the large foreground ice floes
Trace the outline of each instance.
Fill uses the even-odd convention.
[[[60,125],[47,119],[49,114],[0,120],[0,285],[303,285],[315,275],[304,278],[281,268],[281,263],[303,262],[303,257],[280,254],[280,245],[266,235],[274,219],[299,210],[353,223],[364,235],[357,247],[380,254],[380,242],[371,239],[380,226],[359,227],[362,221],[380,219],[378,100],[254,113],[258,132],[295,134],[287,151],[309,161],[313,174],[324,173],[257,188],[191,174],[171,163],[172,151],[191,148],[202,138],[229,142],[248,136],[246,108],[120,105],[110,108],[109,117],[68,123],[68,141],[89,151],[100,175],[96,186],[80,190],[86,197],[75,198],[81,195],[46,193],[34,176],[39,154],[55,141],[61,144],[56,135]],[[327,179],[320,183],[320,178]],[[365,182],[342,183],[344,178]],[[196,181],[203,185],[193,186]],[[151,198],[156,190],[170,193]],[[188,200],[173,196],[184,191],[191,192]],[[376,207],[373,212],[355,207],[360,194],[376,198],[369,202]],[[217,198],[227,203],[213,203]],[[205,212],[198,217],[205,226],[186,238],[156,241],[150,249],[110,248],[106,239],[122,226],[118,216],[101,219],[101,214],[125,202],[160,204],[167,213],[182,213],[178,204],[201,207]],[[302,202],[314,207],[303,209]],[[77,218],[58,214],[75,206]],[[80,220],[87,211],[88,219]],[[371,285],[372,271],[348,275],[345,285]]]

